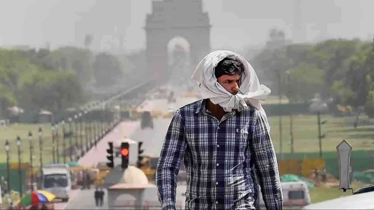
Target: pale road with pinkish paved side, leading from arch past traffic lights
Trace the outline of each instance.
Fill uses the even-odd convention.
[[[152,99],[146,101],[143,104],[142,109],[144,110],[156,110],[164,113],[168,112],[169,105],[173,105],[175,109],[196,101],[196,98],[177,98],[177,102],[174,104],[168,104],[166,99]],[[170,124],[171,118],[159,117],[154,119],[153,129],[140,128],[140,122],[122,122],[117,126],[111,133],[108,133],[101,142],[98,143],[97,148],[93,147],[84,157],[79,160],[79,163],[85,166],[92,166],[95,163],[107,161],[106,149],[108,147],[107,142],[121,138],[121,136],[128,136],[129,138],[136,141],[143,141],[143,149],[145,155],[159,156],[162,148],[163,140],[165,138],[166,131]],[[115,164],[120,164],[120,158],[114,159]],[[186,190],[185,186],[177,187],[178,192],[178,203],[184,204],[186,199],[181,195]],[[104,206],[96,207],[95,200],[93,198],[94,189],[91,190],[80,190],[76,196],[72,197],[71,200],[65,204],[65,209],[108,209],[107,206],[107,193],[105,191]],[[157,195],[154,195],[153,200],[157,201]]]

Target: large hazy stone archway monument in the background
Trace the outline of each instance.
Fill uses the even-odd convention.
[[[145,24],[148,75],[164,81],[168,72],[168,43],[174,37],[184,37],[190,44],[192,75],[211,49],[210,28],[202,0],[152,1],[152,13],[147,15]]]

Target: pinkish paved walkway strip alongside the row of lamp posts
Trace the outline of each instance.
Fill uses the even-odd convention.
[[[101,139],[97,146],[93,146],[78,163],[81,166],[94,166],[99,162],[107,162],[108,142],[121,139],[124,136],[130,136],[137,127],[140,126],[139,121],[122,121],[111,132]]]

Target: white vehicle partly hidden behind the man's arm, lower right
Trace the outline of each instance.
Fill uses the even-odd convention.
[[[301,209],[310,204],[309,188],[306,182],[282,182],[283,208]],[[266,209],[261,191],[258,193],[259,209]]]

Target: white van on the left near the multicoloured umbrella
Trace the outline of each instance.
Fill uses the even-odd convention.
[[[71,191],[70,167],[67,164],[49,164],[42,169],[42,189],[68,201]]]

